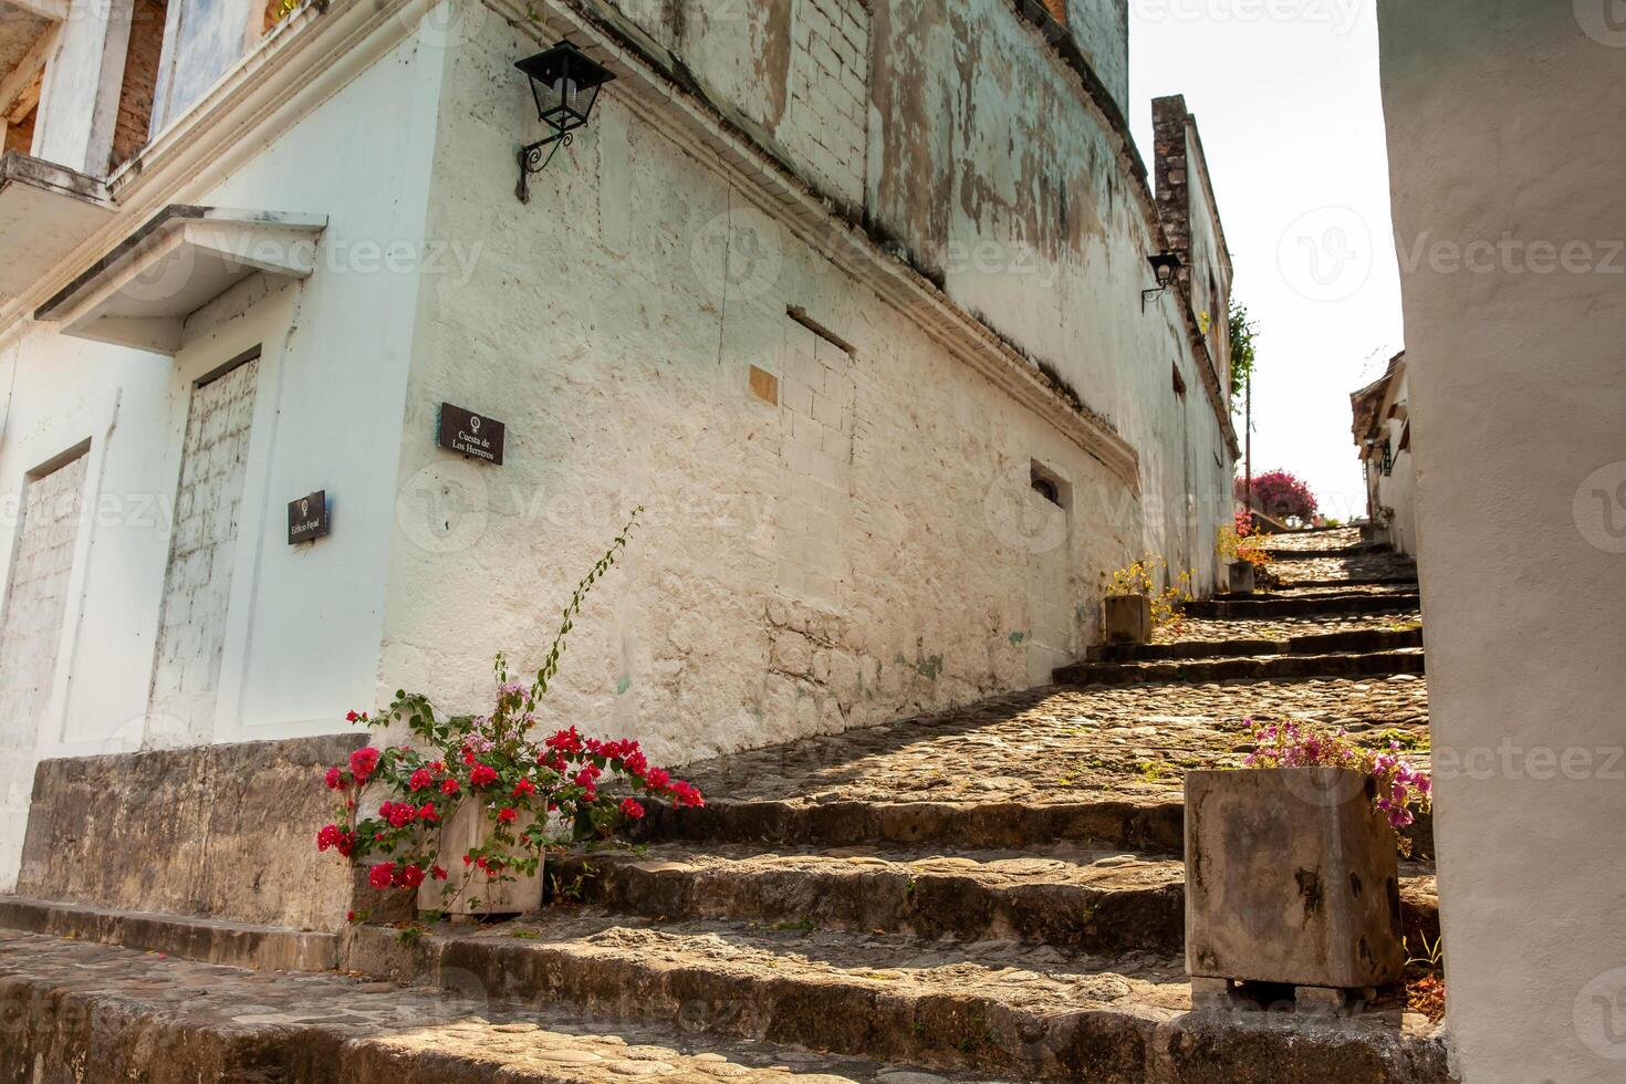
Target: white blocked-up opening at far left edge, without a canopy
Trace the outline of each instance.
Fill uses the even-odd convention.
[[[0,816],[7,821],[28,816],[34,741],[57,673],[88,463],[88,455],[78,455],[29,479],[23,491],[23,527],[0,619]],[[15,868],[16,845],[0,845],[10,852],[0,853],[0,869]]]

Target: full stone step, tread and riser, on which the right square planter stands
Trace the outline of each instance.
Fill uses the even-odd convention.
[[[616,1019],[1023,1081],[1444,1081],[1397,1003],[1325,1022],[1192,1012],[1184,964],[1010,941],[660,923],[584,908],[403,939],[351,931],[348,962],[405,983],[587,1006]]]

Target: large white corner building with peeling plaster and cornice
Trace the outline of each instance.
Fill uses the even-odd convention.
[[[59,15],[0,50],[0,886],[41,757],[480,709],[636,505],[551,710],[668,761],[1042,684],[1140,553],[1213,582],[1223,231],[1114,0]],[[522,203],[564,37],[616,78]]]

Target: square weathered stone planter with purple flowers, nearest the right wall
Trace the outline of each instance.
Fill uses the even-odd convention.
[[[1341,1008],[1400,982],[1395,832],[1346,769],[1185,777],[1185,967],[1198,1008],[1233,983],[1298,986]]]

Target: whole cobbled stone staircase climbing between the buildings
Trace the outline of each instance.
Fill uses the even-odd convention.
[[[1426,738],[1408,566],[1348,535],[1278,546],[1283,587],[1247,600],[1263,609],[1203,608],[1055,687],[688,765],[707,806],[652,811],[637,847],[553,858],[540,915],[309,934],[366,980],[166,977],[150,956],[60,939],[102,936],[104,918],[13,900],[0,925],[41,933],[0,934],[0,999],[91,996],[86,967],[128,973],[117,1019],[190,1027],[189,1050],[242,1064],[252,1047],[306,1066],[218,1079],[416,1081],[431,1055],[449,1073],[436,1079],[457,1081],[1450,1079],[1433,1025],[1392,996],[1340,1021],[1192,1011],[1184,772],[1239,762],[1247,717]],[[1413,853],[1431,853],[1426,824]],[[1431,874],[1406,863],[1402,894],[1408,931],[1433,939]],[[145,930],[200,959],[229,941]],[[205,978],[218,996],[195,993]],[[392,998],[398,1027],[367,1008]]]

